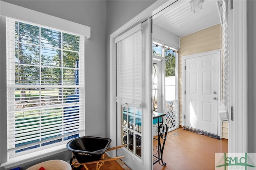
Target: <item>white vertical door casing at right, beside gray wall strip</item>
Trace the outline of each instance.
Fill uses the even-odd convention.
[[[228,123],[228,152],[248,152],[248,52],[247,1],[232,0],[230,5],[230,106],[234,121]],[[230,108],[228,108],[230,109]],[[229,112],[230,117],[230,112]]]

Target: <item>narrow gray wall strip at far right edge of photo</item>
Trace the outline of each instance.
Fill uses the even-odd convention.
[[[248,152],[256,152],[256,1],[247,1],[248,28]]]

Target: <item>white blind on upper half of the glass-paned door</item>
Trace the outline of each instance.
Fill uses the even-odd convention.
[[[142,105],[142,32],[140,25],[116,39],[116,101]]]

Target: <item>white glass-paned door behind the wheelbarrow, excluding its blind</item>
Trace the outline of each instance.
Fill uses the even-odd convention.
[[[128,144],[116,151],[117,156],[125,156],[122,161],[132,170],[150,170],[152,168],[152,113],[151,113],[151,18],[141,24],[142,31],[142,105],[116,105],[117,113],[117,145]],[[132,29],[131,29],[132,30]],[[129,31],[128,31],[129,33]],[[136,37],[135,37],[136,38]],[[128,48],[130,43],[123,43],[122,49]],[[136,46],[137,47],[137,46]],[[141,46],[138,46],[141,48]],[[134,51],[128,50],[131,55]],[[125,69],[125,68],[124,68]],[[117,73],[118,74],[118,73]],[[130,77],[129,77],[130,78]],[[134,79],[137,77],[134,76]],[[138,78],[137,78],[138,79]],[[120,83],[120,82],[119,82]],[[124,77],[122,83],[130,83]],[[137,91],[137,89],[133,89]]]

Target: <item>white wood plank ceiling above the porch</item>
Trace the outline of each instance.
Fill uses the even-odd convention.
[[[220,24],[216,0],[204,0],[195,12],[190,0],[178,0],[154,16],[153,24],[180,37]]]

